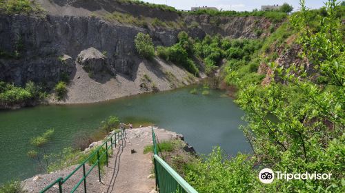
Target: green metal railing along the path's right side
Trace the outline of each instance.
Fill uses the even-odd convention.
[[[197,193],[168,163],[158,156],[157,136],[152,128],[156,188],[160,193]]]

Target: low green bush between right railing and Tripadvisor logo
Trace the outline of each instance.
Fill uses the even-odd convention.
[[[245,154],[226,159],[218,147],[210,155],[188,165],[186,181],[200,193],[253,192],[257,184],[253,165]]]

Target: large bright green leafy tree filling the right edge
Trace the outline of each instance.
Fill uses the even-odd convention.
[[[344,161],[339,159],[345,150],[341,21],[336,16],[333,0],[326,3],[326,16],[315,17],[316,20],[306,10],[304,1],[301,5],[301,12],[293,16],[291,23],[299,32],[297,42],[304,46],[302,57],[308,58],[322,74],[318,81],[322,86],[306,79],[303,65],[284,69],[271,63],[270,68],[284,84],[273,79],[265,87],[246,81],[241,72],[244,68],[229,67],[228,74],[239,86],[236,102],[246,111],[244,119],[248,123],[242,130],[260,166],[268,165],[274,171],[317,171],[333,176],[328,181],[274,181],[265,191],[344,192]],[[276,36],[273,43],[284,39],[279,33],[284,28],[288,30],[291,23],[273,34]],[[272,43],[271,40],[268,39]],[[255,187],[255,191],[260,190],[259,186]]]

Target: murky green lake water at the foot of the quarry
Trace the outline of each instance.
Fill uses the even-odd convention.
[[[220,145],[227,154],[250,152],[239,125],[244,112],[224,96],[190,94],[181,88],[156,94],[140,94],[102,103],[83,105],[39,105],[34,108],[0,111],[0,183],[37,174],[37,165],[28,158],[30,139],[54,128],[49,152],[72,145],[79,132],[95,132],[107,116],[119,116],[125,123],[155,123],[184,135],[185,141],[201,154]]]

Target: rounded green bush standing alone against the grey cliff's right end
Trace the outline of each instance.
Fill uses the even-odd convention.
[[[152,59],[155,56],[155,47],[149,34],[139,32],[135,37],[135,48],[140,57]]]

